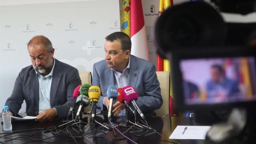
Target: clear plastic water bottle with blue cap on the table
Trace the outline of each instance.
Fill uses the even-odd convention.
[[[8,106],[4,106],[4,110],[2,112],[2,120],[3,120],[3,129],[12,130],[11,112],[9,111]]]

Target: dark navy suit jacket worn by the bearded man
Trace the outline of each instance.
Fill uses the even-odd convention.
[[[78,70],[55,59],[50,90],[50,105],[56,108],[58,118],[66,118],[73,102],[73,92],[81,84]],[[23,100],[26,101],[26,113],[29,116],[38,115],[39,86],[38,77],[32,65],[23,68],[16,78],[12,95],[5,105],[16,116]]]

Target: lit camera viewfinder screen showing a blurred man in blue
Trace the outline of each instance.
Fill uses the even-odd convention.
[[[254,57],[186,59],[180,70],[186,105],[256,100]]]

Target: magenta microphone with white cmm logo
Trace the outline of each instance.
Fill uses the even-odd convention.
[[[140,107],[136,102],[136,100],[138,99],[138,93],[136,92],[136,90],[131,86],[125,86],[122,89],[122,94],[124,96],[124,100],[128,103],[132,103],[132,106],[136,109],[138,114],[140,114],[143,120],[146,120],[144,114],[142,113],[142,111],[140,110]]]

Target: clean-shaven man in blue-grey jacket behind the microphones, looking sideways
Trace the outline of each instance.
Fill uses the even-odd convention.
[[[93,66],[92,85],[99,86],[102,92],[97,106],[108,108],[107,89],[109,86],[132,86],[138,92],[137,103],[145,115],[154,115],[154,110],[161,108],[163,100],[160,84],[154,64],[130,55],[131,40],[123,32],[114,32],[106,37],[105,59]],[[113,105],[117,116],[125,104]]]

